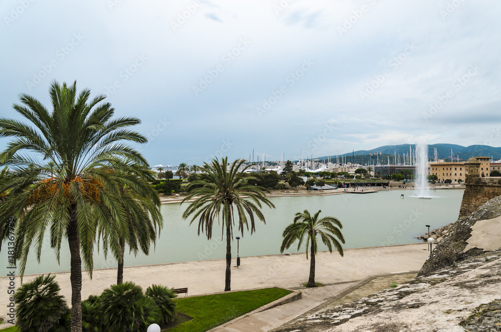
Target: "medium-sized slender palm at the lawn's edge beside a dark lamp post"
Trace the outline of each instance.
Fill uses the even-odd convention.
[[[244,160],[237,159],[232,163],[228,171],[226,169],[227,162],[228,157],[223,158],[221,162],[216,157],[210,165],[204,163],[203,170],[206,174],[203,175],[202,180],[194,181],[188,186],[188,189],[191,186],[194,189],[183,200],[184,203],[193,198],[195,199],[184,211],[183,218],[186,219],[193,214],[190,225],[198,218],[198,235],[200,235],[200,231],[202,233],[205,231],[208,240],[212,237],[214,222],[218,222],[219,217],[222,217],[222,234],[226,230],[224,291],[231,290],[231,239],[235,219],[238,221],[238,231],[242,236],[244,227],[248,231],[248,223],[250,222],[250,234],[252,235],[256,230],[254,214],[265,223],[265,217],[261,212],[261,203],[270,208],[275,208],[273,203],[265,196],[265,192],[270,193],[269,190],[249,185],[243,180],[246,175],[244,171],[252,165],[247,165],[242,171],[238,171]],[[245,177],[245,180],[248,179],[253,178]],[[235,210],[237,213],[236,218],[234,215]]]

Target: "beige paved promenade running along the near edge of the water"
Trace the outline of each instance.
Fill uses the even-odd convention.
[[[368,276],[419,270],[428,257],[427,244],[415,243],[397,246],[346,249],[344,257],[337,252],[330,254],[319,252],[316,256],[316,281],[328,287],[307,289],[304,297],[308,301],[297,301],[289,309],[276,309],[277,315],[268,317],[264,329],[280,326],[297,315],[308,311],[324,299],[334,296],[344,288],[350,287]],[[43,262],[42,262],[43,264]],[[236,265],[236,259],[232,262]],[[239,268],[232,267],[231,289],[244,290],[266,287],[298,288],[308,281],[310,261],[304,253],[291,255],[270,255],[242,257]],[[168,287],[188,287],[188,295],[208,294],[224,290],[225,260],[207,260],[182,263],[144,265],[124,268],[124,281],[134,281],[146,289],[151,284],[163,284]],[[68,272],[54,273],[61,286],[61,293],[70,302],[71,287]],[[93,272],[93,279],[84,273],[82,299],[91,294],[100,294],[109,285],[116,283],[116,269],[98,269]],[[26,275],[24,281],[38,275]],[[0,317],[7,313],[9,278],[0,277]],[[16,286],[21,280],[16,277]],[[181,295],[183,296],[183,295]],[[278,310],[278,311],[277,311]],[[279,314],[277,312],[282,312]],[[265,313],[261,313],[261,316]],[[280,320],[279,317],[282,317]],[[263,318],[264,319],[264,318]],[[268,319],[268,320],[267,320]],[[270,322],[269,320],[276,320]],[[278,324],[278,325],[277,325]],[[276,326],[275,326],[276,325]],[[238,329],[225,329],[236,331]]]

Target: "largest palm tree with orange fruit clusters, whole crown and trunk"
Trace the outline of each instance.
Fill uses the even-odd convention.
[[[89,99],[90,90],[77,93],[76,82],[50,87],[52,111],[32,96],[20,95],[14,109],[28,123],[0,118],[0,137],[11,137],[0,153],[0,164],[12,171],[0,181],[0,193],[10,190],[0,210],[0,223],[7,216],[18,218],[15,256],[24,275],[28,253],[35,247],[40,262],[44,234],[59,261],[61,245],[70,249],[71,330],[82,331],[82,260],[92,277],[93,248],[97,226],[114,218],[118,225],[125,211],[116,186],[118,173],[127,171],[120,158],[148,167],[135,149],[124,143],[144,143],[146,138],[128,127],[139,124],[133,117],[113,119],[114,109],[104,95]],[[56,164],[49,176],[47,160]],[[113,164],[110,164],[113,160]],[[124,180],[125,182],[126,180]],[[120,230],[127,224],[121,224]],[[118,251],[117,241],[109,242]]]

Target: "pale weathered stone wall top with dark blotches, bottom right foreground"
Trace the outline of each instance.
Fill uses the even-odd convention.
[[[494,326],[499,314],[482,305],[499,299],[500,291],[501,250],[497,250],[275,331],[464,331],[460,323],[470,331],[495,331],[482,328],[486,320]]]

